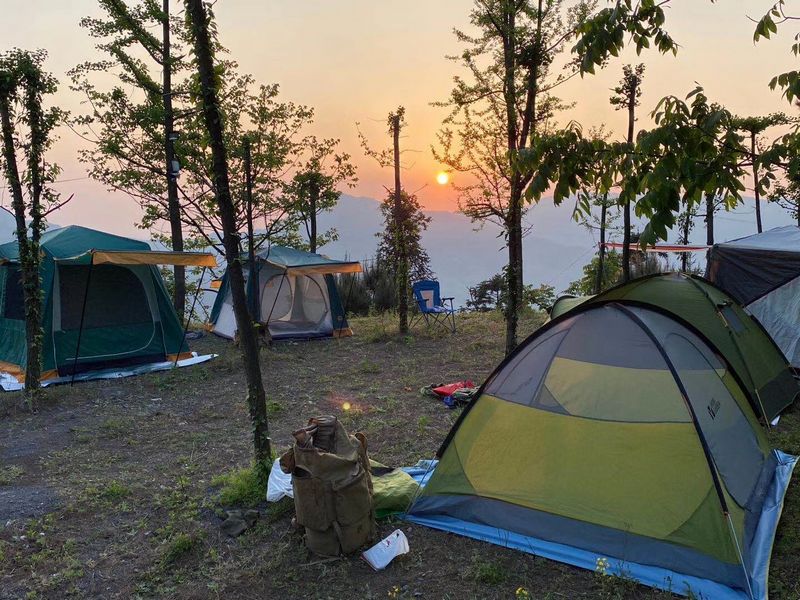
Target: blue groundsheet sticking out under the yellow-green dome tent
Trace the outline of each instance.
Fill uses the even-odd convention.
[[[590,571],[602,570],[607,575],[632,579],[643,585],[683,596],[704,600],[750,600],[751,598],[752,600],[765,600],[768,596],[767,576],[775,532],[783,510],[786,489],[798,461],[795,456],[784,454],[779,450],[774,452],[778,460],[778,467],[775,470],[775,478],[767,494],[753,541],[753,564],[748,569],[753,588],[752,597],[746,590],[732,589],[708,579],[692,577],[652,565],[631,563],[613,556],[604,556],[596,552],[521,535],[481,523],[463,521],[444,515],[415,516],[413,504],[409,512],[402,518],[411,523],[464,535],[505,548],[513,548]],[[434,468],[435,463],[427,469],[412,468],[407,471],[424,486]]]

